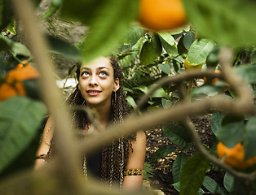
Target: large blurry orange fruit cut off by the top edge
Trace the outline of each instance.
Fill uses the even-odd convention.
[[[181,0],[140,0],[139,22],[154,31],[166,31],[186,24]]]

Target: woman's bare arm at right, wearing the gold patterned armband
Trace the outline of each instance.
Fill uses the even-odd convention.
[[[133,151],[130,149],[126,170],[143,170],[146,155],[146,135],[144,132],[137,132],[136,140],[132,141]],[[123,189],[134,190],[142,187],[143,174],[140,176],[124,176]]]

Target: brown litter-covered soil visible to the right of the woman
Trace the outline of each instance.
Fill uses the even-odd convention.
[[[210,128],[210,114],[202,115],[201,117],[192,118],[192,124],[195,126],[195,131],[201,137],[201,141],[205,145],[211,145],[213,139],[213,133]],[[152,154],[154,154],[163,145],[174,145],[171,143],[167,137],[163,135],[161,127],[152,128],[146,131],[147,136],[147,151],[146,151],[146,163],[149,163]],[[188,156],[194,154],[194,147],[188,150]],[[174,189],[174,179],[172,176],[172,166],[174,159],[177,156],[176,153],[168,154],[165,158],[160,158],[157,162],[149,163],[154,169],[154,174],[150,178],[150,186],[152,189],[161,190],[161,194],[179,194],[179,192]],[[214,176],[214,171],[208,173]]]

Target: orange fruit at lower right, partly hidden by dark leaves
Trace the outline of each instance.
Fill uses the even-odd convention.
[[[223,158],[225,155],[224,163],[238,170],[243,170],[256,163],[256,156],[245,161],[244,146],[241,143],[236,144],[232,148],[227,148],[222,142],[218,142],[217,154],[219,158]]]

